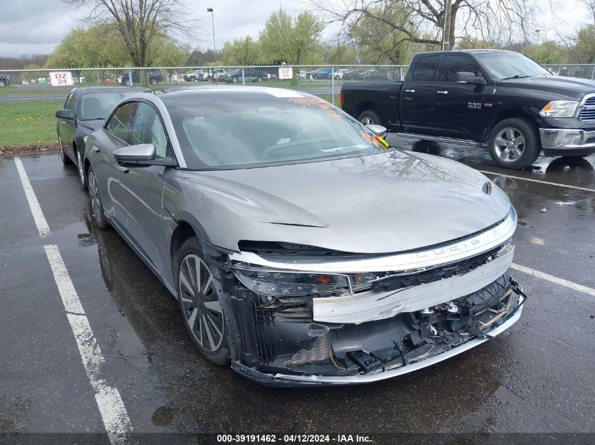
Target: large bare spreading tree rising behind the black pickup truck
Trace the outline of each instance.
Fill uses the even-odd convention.
[[[539,0],[306,0],[327,23],[341,22],[351,28],[362,18],[384,23],[413,43],[453,49],[460,39],[493,41],[506,46],[532,37],[532,19]],[[399,4],[405,13],[399,20],[387,13]],[[443,43],[445,43],[443,45]]]

